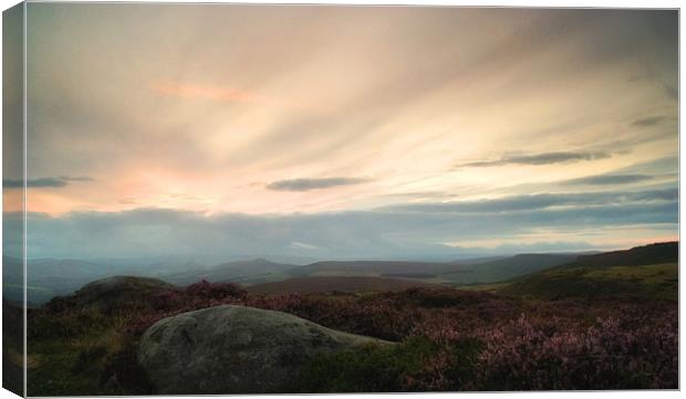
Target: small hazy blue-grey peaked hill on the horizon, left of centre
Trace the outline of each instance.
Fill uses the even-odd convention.
[[[186,285],[200,280],[214,283],[257,284],[281,281],[287,270],[297,267],[294,264],[276,263],[264,259],[227,262],[206,269],[196,269],[184,273],[164,275],[163,279],[173,284]]]

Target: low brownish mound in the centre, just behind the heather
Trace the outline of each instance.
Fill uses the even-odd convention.
[[[258,284],[246,287],[251,294],[281,294],[281,293],[356,293],[356,292],[386,292],[402,291],[412,287],[435,287],[412,280],[383,277],[303,277],[282,282]]]

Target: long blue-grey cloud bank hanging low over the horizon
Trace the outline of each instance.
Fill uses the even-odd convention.
[[[6,213],[8,228],[14,219],[21,222],[21,214]],[[646,238],[654,237],[657,228],[676,235],[678,190],[549,193],[448,206],[291,214],[207,214],[165,209],[60,217],[30,213],[28,223],[31,258],[178,255],[221,261],[241,254],[280,254],[320,260],[450,259],[459,250],[443,243],[517,242],[536,231],[550,232],[549,240],[555,239],[555,232],[578,234],[581,240],[586,237],[584,231],[601,233],[607,229],[612,230],[607,237],[617,240],[622,227],[641,227]],[[594,237],[593,242],[601,241]]]

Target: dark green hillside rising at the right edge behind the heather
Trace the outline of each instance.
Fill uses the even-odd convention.
[[[553,300],[634,296],[676,301],[678,243],[579,256],[575,262],[513,279],[499,292]]]

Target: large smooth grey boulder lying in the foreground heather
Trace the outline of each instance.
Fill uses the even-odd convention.
[[[391,343],[300,317],[222,305],[164,318],[148,328],[138,363],[158,393],[288,392],[316,354]]]

